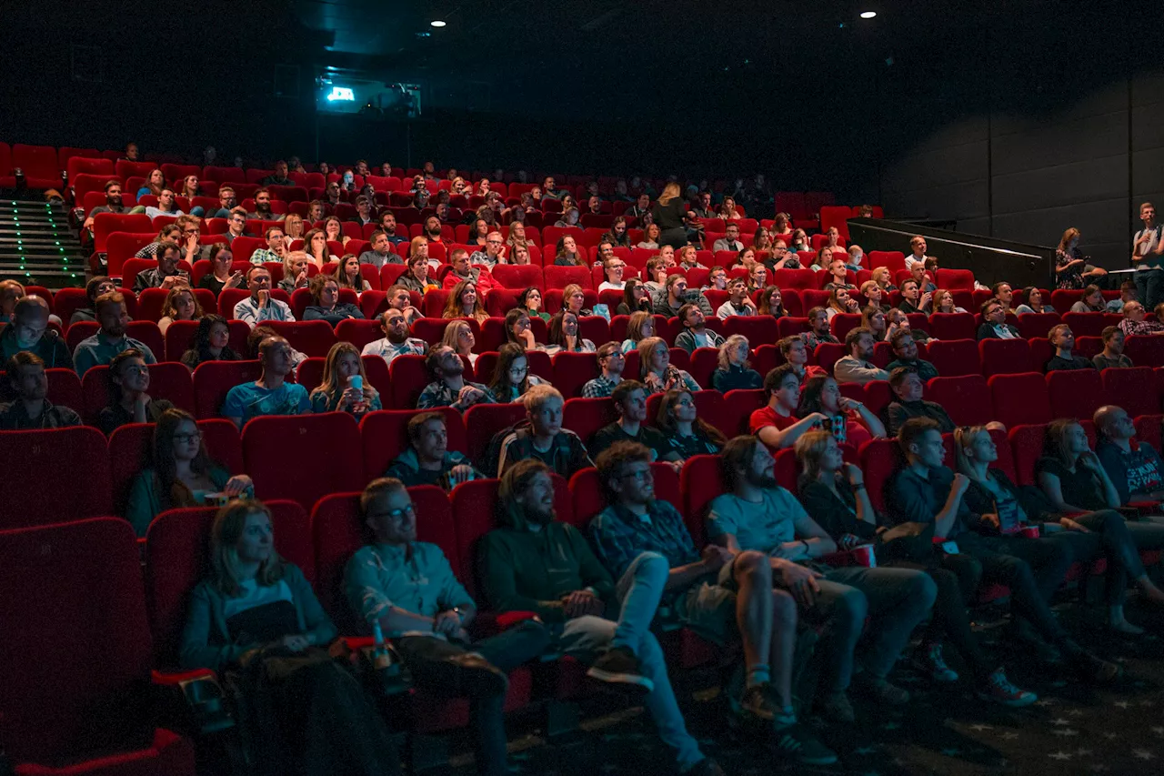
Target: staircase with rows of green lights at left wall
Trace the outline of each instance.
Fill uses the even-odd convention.
[[[64,205],[0,199],[0,278],[48,288],[84,285],[85,260]]]

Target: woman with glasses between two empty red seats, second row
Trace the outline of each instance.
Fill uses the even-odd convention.
[[[170,409],[158,417],[152,452],[152,467],[134,480],[126,508],[126,520],[137,536],[146,536],[149,524],[166,509],[214,506],[220,495],[249,496],[254,491],[249,477],[232,477],[210,458],[190,412]]]

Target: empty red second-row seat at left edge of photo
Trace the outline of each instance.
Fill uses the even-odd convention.
[[[94,428],[0,431],[0,471],[35,494],[0,507],[0,530],[113,514],[108,451]]]

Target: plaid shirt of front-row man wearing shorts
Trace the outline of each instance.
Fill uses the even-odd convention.
[[[700,559],[682,515],[670,502],[652,501],[647,515],[650,520],[611,505],[590,521],[595,553],[615,579],[644,552],[658,552],[672,569]]]

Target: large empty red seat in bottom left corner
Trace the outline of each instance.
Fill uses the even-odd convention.
[[[136,537],[118,517],[0,531],[0,661],[16,774],[194,776],[193,746],[154,728],[152,643]],[[35,648],[33,646],[35,644]]]

